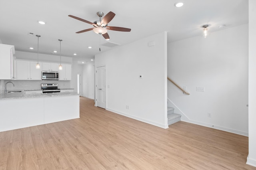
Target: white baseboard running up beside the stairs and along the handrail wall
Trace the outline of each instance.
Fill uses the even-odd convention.
[[[226,132],[230,132],[230,133],[234,133],[234,134],[239,134],[239,135],[242,135],[242,136],[247,136],[247,137],[249,136],[248,132],[244,132],[244,131],[240,131],[240,130],[235,130],[235,129],[231,129],[231,128],[226,128],[226,127],[220,127],[220,126],[211,125],[211,124],[208,124],[208,123],[203,123],[203,122],[198,122],[198,121],[191,120],[170,99],[167,99],[167,100],[168,100],[168,102],[170,102],[172,104],[171,107],[174,107],[174,112],[175,112],[175,109],[177,109],[178,110],[178,114],[182,115],[181,121],[188,122],[188,123],[193,123],[193,124],[204,126],[204,127],[209,127],[209,128],[214,128],[214,129],[218,129],[218,130],[223,130],[223,131],[226,131]]]

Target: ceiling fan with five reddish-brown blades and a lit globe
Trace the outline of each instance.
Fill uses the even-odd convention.
[[[82,22],[86,22],[88,24],[92,24],[94,28],[89,28],[86,30],[82,30],[76,33],[82,33],[82,32],[87,32],[93,30],[96,34],[102,35],[106,40],[109,40],[109,35],[108,35],[108,30],[113,30],[113,31],[123,31],[123,32],[130,32],[130,28],[123,28],[123,27],[113,27],[113,26],[108,26],[108,23],[114,18],[116,15],[114,12],[108,12],[106,16],[102,18],[104,15],[103,12],[97,12],[97,15],[100,17],[100,20],[94,21],[93,23],[87,20],[84,20],[82,18],[78,18],[76,16],[69,15],[71,18],[75,18],[76,20],[80,20]],[[102,19],[101,19],[102,18]]]

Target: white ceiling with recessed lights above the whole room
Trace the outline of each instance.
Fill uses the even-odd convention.
[[[130,42],[168,32],[168,43],[202,34],[202,25],[209,24],[209,31],[248,23],[248,0],[181,0],[184,6],[177,8],[179,0],[1,0],[0,40],[15,45],[16,51],[52,54],[77,61],[90,61],[94,55],[112,49],[100,44],[107,41],[93,31],[76,34],[93,26],[68,15],[90,22],[99,20],[96,12],[116,14],[108,26],[131,28],[131,32],[108,30],[108,42],[125,45]],[[38,24],[43,20],[45,25]],[[219,28],[226,25],[225,28]],[[34,36],[28,33],[34,33]],[[92,49],[88,49],[92,46]],[[33,50],[29,47],[34,47]],[[73,53],[77,53],[76,56]]]

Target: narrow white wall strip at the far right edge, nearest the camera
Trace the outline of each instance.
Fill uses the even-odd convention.
[[[249,154],[246,164],[256,167],[256,1],[249,0]]]

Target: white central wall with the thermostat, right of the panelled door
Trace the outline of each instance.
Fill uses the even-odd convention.
[[[166,45],[162,32],[95,55],[95,67],[106,65],[107,110],[168,128]]]

